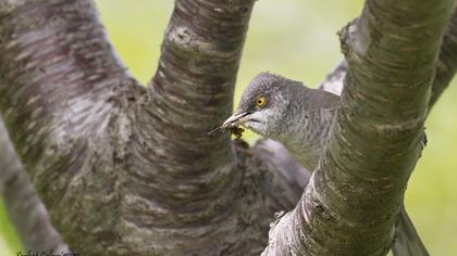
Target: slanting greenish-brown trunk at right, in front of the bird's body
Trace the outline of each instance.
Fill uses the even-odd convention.
[[[348,62],[330,144],[264,255],[385,255],[420,155],[453,1],[368,0],[342,33]],[[363,241],[363,242],[362,242]]]

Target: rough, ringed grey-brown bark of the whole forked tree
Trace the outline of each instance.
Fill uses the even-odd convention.
[[[295,207],[309,174],[281,144],[264,140],[250,149],[231,142],[227,135],[207,136],[232,110],[252,5],[250,0],[177,0],[158,72],[145,90],[115,56],[90,0],[0,1],[0,112],[50,220],[71,249],[83,255],[258,255],[267,245],[273,214]],[[373,47],[360,52],[366,40],[357,47],[345,42],[348,89],[331,146],[298,207],[281,218],[272,234],[284,234],[280,229],[287,228],[287,220],[297,226],[288,226],[287,236],[272,235],[267,252],[354,255],[388,249],[397,206],[416,163],[424,101],[450,5],[367,1],[365,16],[347,29],[375,31]],[[372,15],[384,10],[390,11],[376,15],[379,20]],[[437,15],[439,10],[444,12]],[[399,18],[405,13],[410,20]],[[373,29],[379,22],[382,26]],[[368,39],[358,29],[346,38]],[[442,50],[440,56],[449,61],[442,75],[436,73],[447,77],[442,88],[456,68],[450,38],[443,44],[448,52]],[[415,56],[396,52],[403,46]],[[390,55],[393,66],[374,57],[386,50],[400,53]],[[388,80],[381,79],[385,74]],[[382,93],[395,91],[400,98],[411,88],[418,89],[418,100],[408,97],[405,104],[379,110]],[[370,120],[368,112],[357,111],[359,104],[373,106],[369,111],[376,114],[376,125],[345,129],[347,117],[358,120],[355,124]],[[405,112],[397,113],[397,107]],[[385,136],[391,115],[398,124],[388,126]],[[416,123],[409,121],[411,116]],[[376,138],[374,145],[380,146],[344,133],[355,131]],[[18,230],[26,230],[20,234],[33,249],[66,249],[27,185],[7,133],[0,129],[0,184],[12,199],[7,200],[11,215],[26,205],[38,208],[37,214],[25,214],[32,221],[15,221]],[[355,155],[341,154],[347,143],[357,152],[373,153],[357,155],[348,165]],[[384,172],[375,169],[381,161]],[[363,167],[369,171],[361,171]],[[353,182],[357,184],[350,187]],[[372,196],[367,199],[367,193]],[[350,196],[350,203],[341,196]],[[367,209],[374,203],[380,208]],[[343,216],[348,207],[351,215]],[[313,232],[304,236],[310,240],[294,236],[298,233],[293,231],[311,227]],[[29,230],[41,235],[29,239]],[[322,235],[330,242],[325,246],[319,242]],[[360,244],[361,235],[372,243]]]

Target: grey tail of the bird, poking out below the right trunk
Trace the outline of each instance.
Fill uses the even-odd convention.
[[[403,203],[398,222],[395,226],[395,234],[396,239],[392,246],[394,256],[430,256]]]

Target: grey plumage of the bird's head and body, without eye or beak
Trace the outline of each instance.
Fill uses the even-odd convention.
[[[248,123],[246,127],[282,142],[305,168],[313,170],[326,144],[339,98],[299,81],[261,73],[245,89],[238,108],[255,110],[252,102],[259,95],[265,95],[270,104],[263,111],[262,124]]]

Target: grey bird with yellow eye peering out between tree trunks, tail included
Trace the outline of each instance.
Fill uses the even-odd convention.
[[[257,75],[244,90],[237,110],[220,128],[239,125],[276,140],[308,170],[313,170],[329,140],[339,97],[270,73]],[[395,256],[429,255],[402,205]]]

